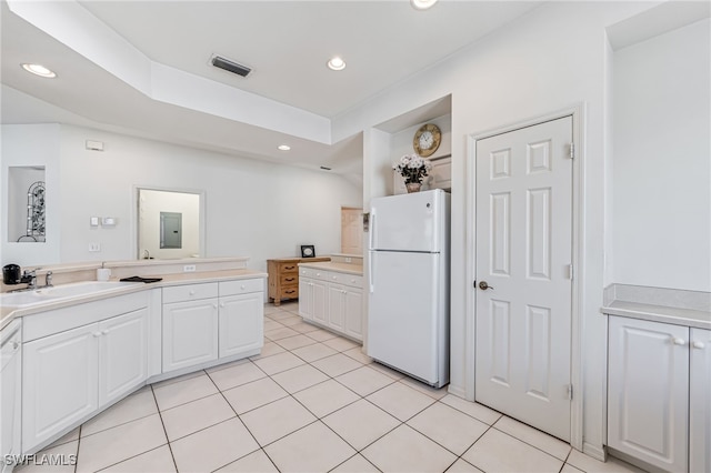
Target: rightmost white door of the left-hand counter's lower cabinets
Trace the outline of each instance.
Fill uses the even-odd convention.
[[[260,349],[264,343],[262,292],[220,298],[219,356]]]

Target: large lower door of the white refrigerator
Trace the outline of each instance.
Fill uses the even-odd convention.
[[[441,381],[442,321],[438,253],[371,254],[368,354],[435,385]]]

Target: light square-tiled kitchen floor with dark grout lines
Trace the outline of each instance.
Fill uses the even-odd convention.
[[[44,472],[639,472],[382,366],[264,308],[259,356],[141,389],[41,453]]]

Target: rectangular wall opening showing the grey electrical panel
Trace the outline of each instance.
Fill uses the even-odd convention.
[[[138,189],[138,259],[204,255],[201,191]]]

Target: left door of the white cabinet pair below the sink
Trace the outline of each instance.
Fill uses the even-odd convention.
[[[22,451],[98,409],[98,324],[46,336],[22,348]]]

